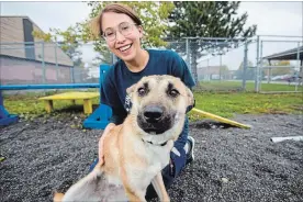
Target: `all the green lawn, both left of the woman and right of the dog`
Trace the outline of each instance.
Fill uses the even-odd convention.
[[[231,85],[231,82],[229,82]],[[252,85],[252,83],[251,83]],[[249,85],[250,86],[250,85]],[[276,87],[274,87],[276,88]],[[52,92],[55,93],[55,92]],[[50,94],[50,93],[48,93]],[[5,96],[4,106],[10,113],[19,114],[24,119],[33,119],[37,115],[45,115],[44,104],[37,100],[42,94]],[[197,109],[221,115],[233,117],[234,114],[260,114],[260,113],[302,113],[303,93],[277,93],[260,94],[254,92],[206,92],[194,91]],[[54,113],[50,115],[77,113],[82,114],[82,102],[77,101],[78,106],[72,106],[70,101],[55,101]],[[93,99],[94,106],[98,106],[99,99]],[[76,109],[76,110],[75,110]],[[197,114],[190,113],[191,120],[200,119]]]

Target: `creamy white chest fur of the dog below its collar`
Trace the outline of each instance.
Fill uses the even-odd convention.
[[[143,142],[137,136],[125,135],[121,146],[119,177],[106,175],[111,184],[122,184],[120,179],[122,167],[126,171],[130,183],[149,184],[150,180],[169,162],[170,149],[167,146],[153,145]],[[130,146],[132,145],[132,146]]]

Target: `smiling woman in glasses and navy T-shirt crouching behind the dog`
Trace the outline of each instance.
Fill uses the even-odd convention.
[[[109,130],[121,124],[127,115],[125,98],[126,88],[149,75],[172,75],[179,77],[189,88],[194,81],[184,60],[175,52],[144,49],[141,46],[143,37],[142,21],[136,13],[126,5],[113,3],[106,5],[102,12],[91,21],[91,29],[96,36],[102,36],[109,49],[120,59],[108,71],[101,87],[101,103],[110,105],[113,115],[99,142],[99,159],[103,161],[102,144]],[[171,152],[170,165],[162,170],[164,182],[168,188],[187,164],[193,160],[194,139],[188,136],[188,117],[175,147],[180,156]],[[147,189],[146,198],[156,197],[153,186]]]

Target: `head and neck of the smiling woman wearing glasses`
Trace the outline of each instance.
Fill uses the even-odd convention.
[[[109,49],[124,60],[132,71],[141,71],[148,54],[141,48],[142,21],[128,7],[110,4],[92,21],[96,36],[103,36]]]

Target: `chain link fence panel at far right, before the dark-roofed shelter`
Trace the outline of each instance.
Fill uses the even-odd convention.
[[[257,40],[256,91],[302,92],[303,36],[265,35]]]

